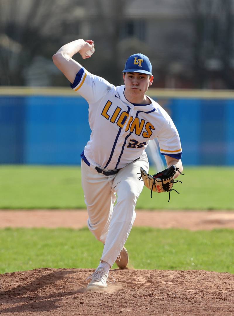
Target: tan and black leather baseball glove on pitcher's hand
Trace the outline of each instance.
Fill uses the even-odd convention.
[[[169,192],[169,199],[170,201],[170,192],[172,190],[176,191],[175,189],[172,189],[174,183],[180,182],[180,180],[174,180],[175,179],[175,173],[178,171],[180,174],[183,174],[180,172],[178,168],[176,168],[174,165],[170,166],[169,168],[166,168],[165,170],[154,174],[153,176],[147,173],[142,167],[140,168],[141,175],[138,178],[139,180],[142,179],[144,181],[144,185],[151,190],[150,197],[152,197],[152,192]],[[178,191],[176,191],[178,194],[180,194]]]

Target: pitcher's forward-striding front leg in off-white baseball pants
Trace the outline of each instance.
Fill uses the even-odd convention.
[[[122,250],[136,217],[136,201],[144,186],[143,181],[137,179],[140,167],[149,170],[147,156],[121,169],[113,182],[117,193],[117,203],[112,213],[101,257],[101,260],[108,262],[111,266]]]

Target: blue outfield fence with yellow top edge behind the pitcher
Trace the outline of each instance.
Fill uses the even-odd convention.
[[[234,92],[148,95],[172,117],[184,165],[234,164]],[[1,164],[80,164],[90,133],[88,104],[73,91],[0,89]]]

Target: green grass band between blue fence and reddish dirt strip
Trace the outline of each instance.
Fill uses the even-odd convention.
[[[154,173],[154,170],[151,170]],[[144,188],[138,209],[233,210],[234,168],[184,167],[180,192],[153,194]],[[79,167],[0,167],[0,209],[80,209],[85,208]]]

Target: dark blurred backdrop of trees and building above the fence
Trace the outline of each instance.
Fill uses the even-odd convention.
[[[64,86],[52,55],[92,38],[96,53],[82,63],[116,85],[126,58],[142,52],[154,87],[233,89],[233,2],[2,0],[0,84]]]

